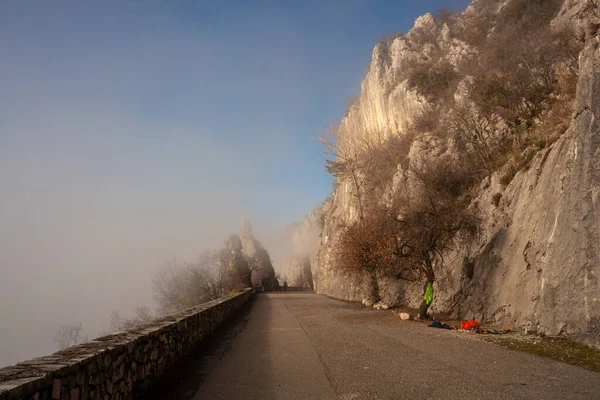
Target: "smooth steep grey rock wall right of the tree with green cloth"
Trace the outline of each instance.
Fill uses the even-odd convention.
[[[581,53],[569,130],[515,176],[487,215],[460,314],[600,346],[598,46],[590,36]]]

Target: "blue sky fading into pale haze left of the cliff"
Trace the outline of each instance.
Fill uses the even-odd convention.
[[[241,217],[302,218],[331,191],[316,136],[379,37],[467,3],[3,1],[0,346],[31,354],[0,365],[52,346],[23,332],[98,333]]]

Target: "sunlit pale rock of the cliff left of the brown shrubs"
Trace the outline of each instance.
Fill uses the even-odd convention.
[[[466,15],[473,11],[465,10]],[[423,38],[431,38],[437,48]],[[403,135],[427,109],[427,100],[409,88],[408,80],[401,78],[411,62],[434,57],[441,52],[442,58],[451,65],[471,56],[475,50],[458,39],[451,38],[448,26],[442,27],[431,14],[419,17],[407,35],[400,35],[389,43],[379,43],[373,50],[370,68],[361,84],[361,94],[349,107],[340,124],[341,140],[356,140],[356,136],[370,136],[367,140],[379,142],[388,136]],[[414,143],[413,162],[421,158],[421,143]],[[397,179],[390,190],[400,186]],[[333,261],[334,248],[343,226],[358,219],[359,210],[353,183],[340,179],[333,195],[323,205],[324,227],[319,250],[319,262],[313,269],[315,286],[322,293],[367,302],[367,278],[361,274],[340,271]],[[418,306],[421,284],[407,284],[381,278],[379,284],[382,300],[390,305],[408,302]]]

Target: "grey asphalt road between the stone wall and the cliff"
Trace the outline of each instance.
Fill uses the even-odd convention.
[[[259,294],[153,398],[600,399],[600,375],[313,293]]]

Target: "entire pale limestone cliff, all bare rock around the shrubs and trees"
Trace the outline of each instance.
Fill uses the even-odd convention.
[[[510,1],[474,1],[454,27],[471,27],[481,7],[492,3],[501,9]],[[600,346],[598,15],[595,3],[568,0],[554,19],[553,25],[569,25],[585,41],[569,129],[539,151],[508,186],[499,172],[481,183],[472,204],[482,218],[481,232],[468,246],[446,255],[450,273],[436,284],[434,312],[452,311],[459,317],[570,335]],[[437,46],[428,45],[423,37],[433,38]],[[341,122],[342,138],[402,135],[414,126],[427,111],[428,99],[410,88],[403,69],[411,61],[433,57],[434,52],[456,66],[478,54],[478,49],[457,39],[448,24],[436,22],[431,15],[417,19],[407,35],[378,44],[360,97]],[[454,94],[457,103],[460,88]],[[413,143],[410,162],[427,162],[440,152],[460,157],[452,146],[436,149],[437,141],[430,137]],[[400,175],[395,175],[389,190],[406,189]],[[311,250],[309,257],[314,260],[318,292],[365,301],[368,279],[342,272],[333,259],[341,229],[358,219],[355,197],[352,183],[339,179],[319,211],[323,228],[318,256]],[[422,296],[422,282],[381,278],[379,286],[382,300],[390,305],[416,307]]]

